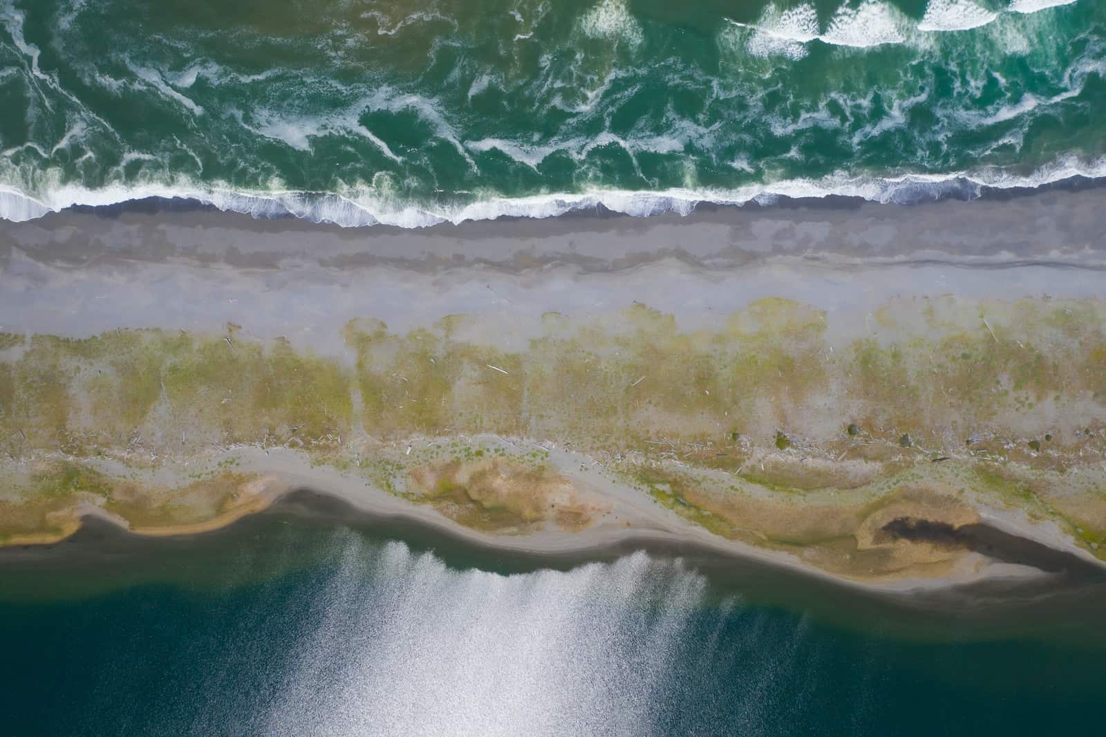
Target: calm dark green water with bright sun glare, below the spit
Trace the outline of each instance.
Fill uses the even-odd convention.
[[[0,733],[1097,734],[1106,699],[1094,624],[904,634],[661,556],[507,574],[296,519],[150,544],[6,559]]]

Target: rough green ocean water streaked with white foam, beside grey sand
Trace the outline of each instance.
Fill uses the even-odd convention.
[[[1106,174],[1100,0],[0,0],[0,216],[405,227]]]

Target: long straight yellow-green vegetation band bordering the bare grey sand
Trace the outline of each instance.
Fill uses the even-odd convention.
[[[237,328],[207,336],[36,335],[18,357],[0,361],[0,423],[13,455],[55,450],[74,438],[95,449],[140,437],[159,442],[161,453],[170,437],[177,450],[205,437],[319,448],[361,428],[385,439],[571,439],[593,451],[651,456],[659,445],[718,446],[738,434],[741,453],[684,451],[719,468],[740,467],[750,446],[790,451],[795,437],[804,438],[803,453],[949,455],[948,429],[956,427],[961,443],[985,430],[992,439],[973,449],[1003,458],[1016,455],[1006,447],[1010,436],[1066,432],[1068,444],[1050,446],[1052,454],[1022,444],[1019,453],[1037,464],[1065,463],[1072,445],[1102,445],[1092,435],[1071,439],[1086,426],[1055,424],[1076,415],[1057,414],[1064,408],[1092,427],[1095,413],[1106,416],[1106,394],[1095,398],[1106,392],[1106,343],[1086,322],[1098,312],[1076,310],[1076,320],[1057,318],[1047,303],[1036,312],[1032,304],[1005,312],[988,305],[989,330],[958,323],[957,304],[928,304],[921,313],[930,324],[916,333],[896,326],[891,342],[833,341],[825,313],[775,299],[753,302],[713,331],[681,330],[672,315],[645,305],[595,320],[546,315],[543,333],[523,351],[495,347],[494,331],[473,316],[451,315],[404,335],[364,319],[343,332],[352,370],[285,341],[248,340]],[[907,324],[896,318],[905,310],[888,309],[883,322]],[[852,419],[846,436],[856,442],[834,446],[842,416]],[[1030,423],[1037,426],[1026,432]]]

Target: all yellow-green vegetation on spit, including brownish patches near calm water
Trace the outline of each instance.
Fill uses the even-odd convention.
[[[344,356],[251,339],[232,324],[213,334],[3,334],[0,449],[13,461],[108,457],[145,468],[212,447],[284,446],[463,525],[572,528],[568,511],[550,517],[511,506],[525,494],[511,504],[484,495],[492,478],[545,484],[534,468],[531,478],[495,465],[511,456],[511,464],[540,466],[541,458],[466,439],[499,435],[650,468],[635,482],[658,502],[717,534],[763,544],[838,544],[863,517],[859,501],[843,507],[834,494],[870,504],[938,478],[945,492],[980,494],[1057,520],[1088,546],[1103,539],[1106,516],[1095,501],[1103,487],[1061,491],[1064,474],[1106,450],[1103,303],[900,300],[873,316],[859,330],[810,305],[765,299],[710,329],[687,329],[635,304],[587,319],[545,314],[529,344],[510,350],[474,316],[406,334],[366,318],[341,329]],[[383,447],[411,437],[463,443],[441,457],[349,449],[351,438]],[[480,464],[486,477],[472,471]],[[445,480],[413,481],[419,467]],[[1013,467],[1022,469],[1016,478]],[[171,506],[144,507],[142,485],[126,487],[124,501],[121,487],[97,491],[85,471],[52,478],[20,494],[69,498],[82,488],[125,517],[187,517]],[[54,496],[33,494],[35,485]],[[196,504],[205,515],[219,508]],[[769,510],[781,505],[821,505],[817,515],[830,522],[818,527],[812,517],[795,527],[792,515],[778,525]]]

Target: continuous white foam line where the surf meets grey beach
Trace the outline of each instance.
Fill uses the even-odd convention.
[[[614,212],[648,216],[660,212],[690,214],[697,204],[744,205],[771,203],[778,197],[823,198],[833,195],[857,197],[876,203],[908,203],[936,199],[950,194],[975,196],[983,188],[1034,188],[1073,177],[1106,177],[1106,157],[1085,162],[1068,157],[1027,175],[1003,169],[950,173],[946,175],[909,174],[888,178],[857,177],[845,173],[820,179],[787,179],[735,189],[672,188],[657,191],[593,189],[582,193],[534,195],[530,197],[486,197],[452,205],[421,205],[397,199],[383,187],[351,189],[341,194],[295,190],[242,190],[227,185],[201,186],[181,179],[176,184],[140,184],[88,189],[61,185],[43,193],[30,193],[18,185],[0,185],[0,217],[23,221],[42,217],[74,205],[107,206],[148,197],[185,198],[212,205],[221,210],[254,217],[291,215],[314,222],[357,227],[389,225],[420,228],[439,222],[491,220],[498,217],[556,217],[573,211],[594,210],[602,206]]]

